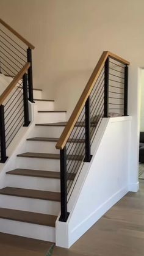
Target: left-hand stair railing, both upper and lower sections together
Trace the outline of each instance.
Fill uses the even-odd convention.
[[[35,47],[0,19],[0,76],[7,87],[0,95],[0,163],[21,126],[29,125],[28,99],[34,102],[32,49]],[[0,85],[1,86],[1,85]]]

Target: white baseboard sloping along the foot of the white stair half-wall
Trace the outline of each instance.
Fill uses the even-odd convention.
[[[95,224],[98,219],[100,219],[115,203],[117,203],[126,193],[128,192],[128,187],[120,189],[118,192],[113,194],[106,202],[99,206],[90,216],[88,216],[84,221],[77,225],[73,230],[71,230],[69,244],[70,247],[74,242],[76,242],[85,232],[87,232],[93,224]]]

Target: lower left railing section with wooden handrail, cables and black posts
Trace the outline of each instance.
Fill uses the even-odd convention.
[[[0,162],[7,160],[6,150],[20,130],[21,126],[29,125],[29,108],[27,92],[26,63],[18,75],[0,96]]]

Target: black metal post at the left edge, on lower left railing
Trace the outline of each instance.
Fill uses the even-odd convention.
[[[1,141],[1,160],[0,163],[5,163],[6,156],[6,143],[5,143],[5,123],[4,123],[4,106],[0,106],[0,141]]]

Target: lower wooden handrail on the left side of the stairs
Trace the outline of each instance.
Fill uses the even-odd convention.
[[[9,96],[10,92],[12,92],[12,89],[16,86],[18,81],[20,81],[20,79],[23,78],[23,75],[26,73],[26,71],[29,69],[30,66],[31,66],[31,64],[29,62],[27,62],[23,66],[23,68],[21,68],[18,75],[15,76],[13,81],[10,82],[9,86],[7,86],[7,88],[4,90],[4,92],[2,92],[2,94],[0,96],[0,105],[4,102],[5,98],[7,98],[7,96]]]

